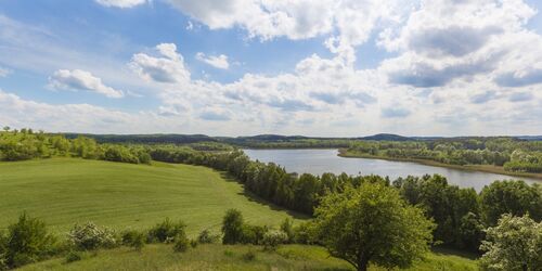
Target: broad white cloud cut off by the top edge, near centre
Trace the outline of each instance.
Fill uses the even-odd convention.
[[[353,61],[353,47],[365,42],[376,23],[397,21],[399,0],[167,0],[210,29],[241,27],[249,38],[299,40],[331,36],[326,46]]]

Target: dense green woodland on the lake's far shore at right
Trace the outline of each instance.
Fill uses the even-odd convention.
[[[450,165],[493,165],[514,172],[542,172],[542,142],[514,138],[357,141],[346,154],[426,159]]]

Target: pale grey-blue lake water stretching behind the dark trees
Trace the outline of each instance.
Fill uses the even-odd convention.
[[[521,179],[528,183],[541,182],[535,179],[511,177],[481,171],[459,170],[443,167],[426,166],[410,162],[391,162],[371,158],[344,158],[337,156],[337,150],[244,150],[251,158],[260,162],[273,162],[289,172],[322,175],[324,172],[348,175],[388,176],[391,180],[398,177],[442,175],[449,183],[462,188],[474,188],[480,191],[494,180]]]

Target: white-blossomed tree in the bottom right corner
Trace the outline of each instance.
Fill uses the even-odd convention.
[[[487,230],[481,250],[482,270],[538,271],[542,267],[542,223],[528,215],[504,215],[496,227]]]

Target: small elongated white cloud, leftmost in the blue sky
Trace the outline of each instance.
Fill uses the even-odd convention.
[[[108,98],[122,98],[124,92],[107,87],[102,79],[93,76],[91,73],[81,69],[59,69],[49,77],[49,87],[56,90],[87,90]]]

